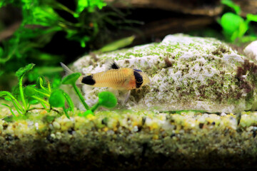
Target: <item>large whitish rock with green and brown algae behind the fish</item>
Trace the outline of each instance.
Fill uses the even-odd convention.
[[[148,86],[132,90],[127,106],[157,110],[206,110],[237,113],[254,109],[257,66],[215,38],[168,35],[161,43],[84,56],[76,71],[104,71],[107,58],[121,67],[146,72]],[[93,105],[106,88],[83,87],[86,102]],[[112,90],[122,96],[119,90]]]

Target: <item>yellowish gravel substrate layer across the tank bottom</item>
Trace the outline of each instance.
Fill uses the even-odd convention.
[[[238,117],[131,109],[69,115],[39,110],[26,120],[0,120],[1,169],[257,168],[256,112]]]

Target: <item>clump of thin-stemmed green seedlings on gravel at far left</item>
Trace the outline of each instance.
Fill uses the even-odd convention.
[[[19,86],[17,88],[19,95],[17,95],[17,97],[15,97],[15,95],[12,95],[9,91],[0,91],[0,97],[4,98],[7,101],[10,101],[14,105],[14,108],[16,109],[17,113],[19,113],[19,115],[25,115],[28,111],[35,110],[35,109],[53,110],[51,106],[64,108],[65,100],[69,104],[68,110],[71,110],[73,112],[74,103],[72,102],[69,95],[60,89],[56,89],[52,91],[49,81],[48,83],[45,84],[43,78],[40,77],[38,81],[39,82],[38,86],[36,85],[23,86],[23,78],[26,73],[32,70],[32,68],[34,68],[33,63],[25,66],[24,68],[19,68],[19,70],[16,72],[16,76],[19,79]],[[56,100],[55,98],[56,96],[58,96],[61,100]],[[49,98],[49,102],[46,100],[48,98]],[[22,105],[19,103],[18,99],[21,100]],[[62,101],[64,101],[64,103],[62,103],[63,105],[59,106]],[[31,107],[31,105],[35,105],[38,103],[41,103],[43,108]],[[2,105],[7,106],[11,111],[11,114],[14,115],[14,117],[16,117],[16,115],[14,114],[14,111],[11,109],[11,106],[7,104],[2,104]],[[54,111],[58,112],[58,110],[54,110]],[[64,108],[64,112],[66,116],[69,118],[69,115],[66,113],[65,108]]]

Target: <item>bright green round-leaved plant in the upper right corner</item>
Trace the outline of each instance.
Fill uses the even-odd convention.
[[[221,19],[218,21],[223,28],[223,34],[226,36],[227,41],[236,41],[245,42],[253,41],[257,38],[256,35],[244,36],[246,31],[249,29],[249,24],[251,21],[257,22],[257,15],[247,14],[246,19],[243,19],[240,16],[241,9],[240,6],[233,3],[231,0],[222,0],[222,4],[225,4],[231,7],[236,14],[228,12],[221,16]]]

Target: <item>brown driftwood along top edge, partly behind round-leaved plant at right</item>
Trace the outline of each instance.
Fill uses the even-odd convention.
[[[223,11],[223,5],[218,0],[106,0],[117,8],[149,8],[176,11],[183,14],[217,16]],[[241,7],[241,16],[257,14],[256,0],[233,0]]]

